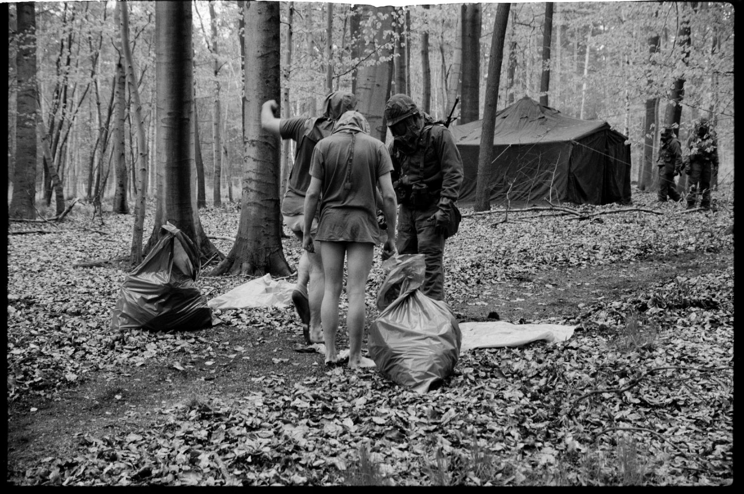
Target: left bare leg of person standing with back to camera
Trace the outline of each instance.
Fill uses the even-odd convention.
[[[325,361],[336,362],[339,355],[336,352],[336,331],[339,330],[339,299],[344,282],[344,256],[346,245],[344,242],[318,242],[321,244],[323,270],[325,273],[325,290],[321,304],[321,321],[323,337],[325,339]]]

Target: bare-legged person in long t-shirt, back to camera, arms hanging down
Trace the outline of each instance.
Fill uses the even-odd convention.
[[[312,152],[312,179],[305,195],[305,231],[320,202],[320,221],[315,235],[305,235],[302,246],[312,252],[313,236],[320,244],[325,272],[325,293],[321,320],[325,339],[326,363],[337,363],[336,331],[339,328],[339,298],[347,259],[349,311],[349,366],[373,367],[362,357],[365,328],[365,286],[372,267],[374,245],[380,230],[376,218],[376,186],[382,193],[382,212],[388,223],[385,249],[395,250],[397,203],[390,178],[393,164],[388,149],[368,135],[369,124],[357,111],[347,111],[330,137],[318,142]]]

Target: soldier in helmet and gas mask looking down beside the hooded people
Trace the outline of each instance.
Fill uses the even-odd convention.
[[[398,212],[397,250],[423,254],[426,277],[421,290],[444,300],[443,256],[446,238],[458,230],[457,207],[463,163],[452,134],[443,123],[419,111],[410,97],[394,94],[385,105],[394,140],[393,186]]]

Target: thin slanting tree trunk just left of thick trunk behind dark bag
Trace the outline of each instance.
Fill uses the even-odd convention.
[[[144,233],[145,198],[147,198],[147,161],[150,152],[147,149],[147,136],[144,131],[144,117],[140,103],[139,89],[135,77],[135,62],[132,49],[129,47],[129,9],[126,2],[117,2],[116,8],[121,9],[121,48],[126,60],[126,75],[129,78],[129,94],[132,97],[132,111],[129,112],[130,125],[137,129],[137,162],[132,163],[132,169],[138,170],[137,201],[135,201],[135,224],[132,229],[132,250],[129,253],[129,265],[138,266],[142,262],[142,237]]]

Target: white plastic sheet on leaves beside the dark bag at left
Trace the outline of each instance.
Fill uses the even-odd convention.
[[[271,275],[266,274],[211,299],[207,305],[213,309],[289,307],[292,305],[292,290],[294,289],[294,283],[283,279],[272,279]]]

